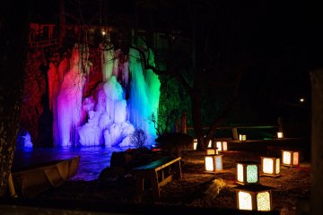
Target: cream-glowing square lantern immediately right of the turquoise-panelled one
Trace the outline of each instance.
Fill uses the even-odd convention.
[[[260,157],[262,176],[279,176],[280,174],[280,159],[273,157]]]

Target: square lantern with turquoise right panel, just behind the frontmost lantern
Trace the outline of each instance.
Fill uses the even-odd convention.
[[[259,183],[259,163],[253,161],[238,161],[237,183],[240,185]]]

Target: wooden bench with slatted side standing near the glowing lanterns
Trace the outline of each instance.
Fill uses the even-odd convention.
[[[136,189],[138,196],[144,193],[144,180],[150,180],[153,189],[153,197],[161,197],[160,187],[174,179],[181,179],[180,157],[163,158],[155,160],[147,165],[134,168],[136,178]]]

